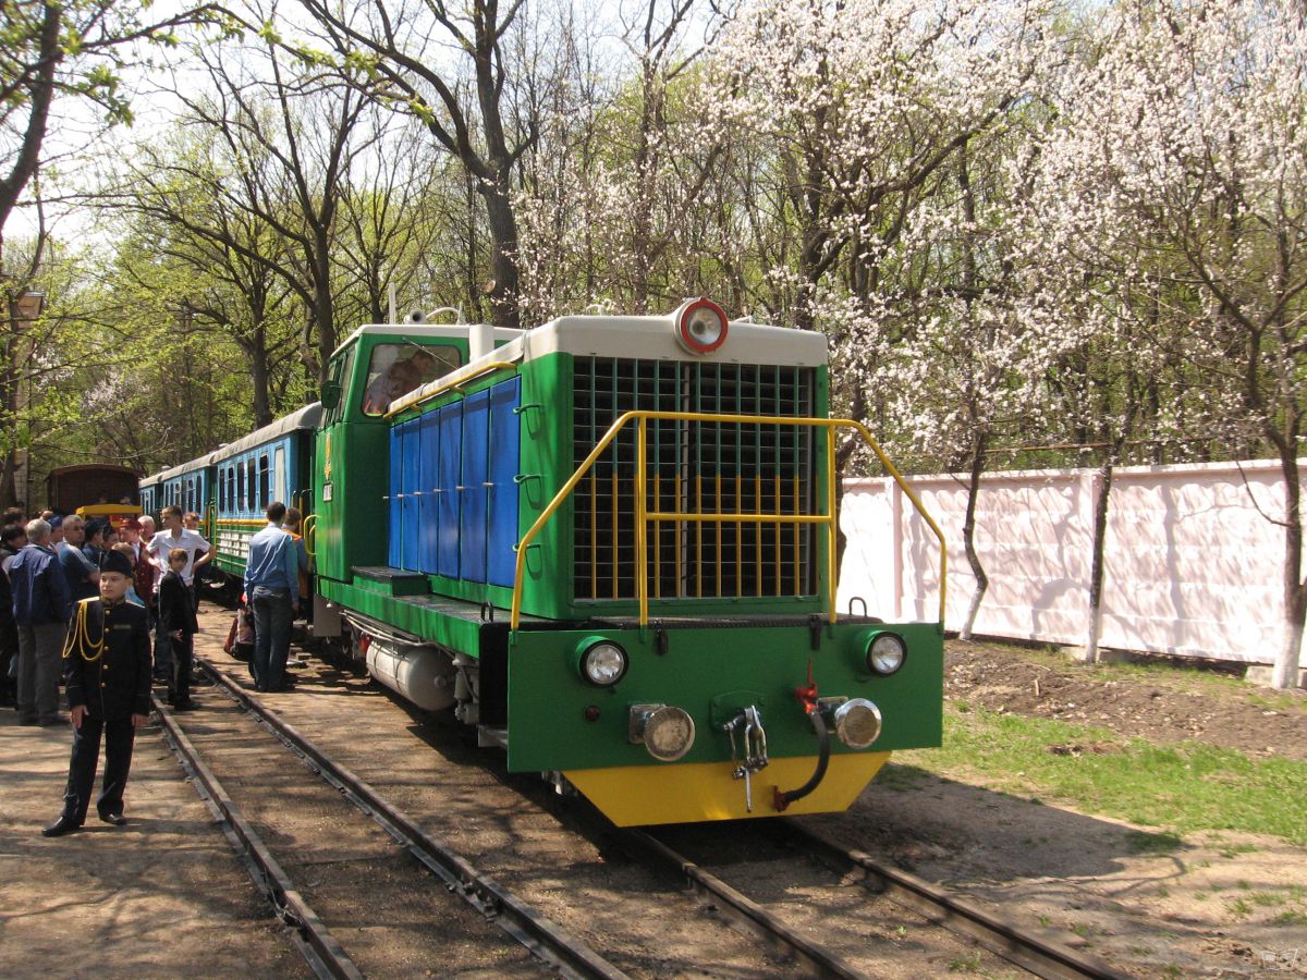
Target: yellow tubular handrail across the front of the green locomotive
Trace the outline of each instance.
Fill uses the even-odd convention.
[[[876,453],[876,457],[885,466],[886,472],[894,478],[899,489],[907,495],[912,502],[914,510],[921,515],[927,527],[931,528],[936,540],[940,542],[940,626],[944,626],[944,612],[945,612],[945,592],[949,578],[949,553],[944,541],[944,532],[940,531],[940,525],[935,523],[935,519],[927,514],[925,507],[921,506],[921,500],[908,486],[903,474],[898,472],[898,468],[890,463],[889,456],[881,448],[876,438],[868,431],[867,426],[861,422],[856,422],[851,418],[787,418],[787,417],[769,417],[769,416],[719,416],[708,414],[702,412],[648,412],[648,410],[635,410],[623,413],[617,421],[608,427],[604,436],[599,440],[589,455],[586,456],[576,472],[571,474],[566,483],[559,487],[558,493],[554,494],[553,499],[540,512],[535,523],[528,528],[527,533],[521,536],[521,541],[518,542],[518,559],[514,571],[512,580],[512,612],[510,615],[510,629],[516,632],[518,623],[521,618],[521,584],[527,574],[527,549],[531,542],[535,541],[540,531],[549,523],[549,519],[554,516],[554,512],[562,506],[576,485],[582,481],[604,453],[604,451],[612,444],[617,434],[626,427],[631,421],[637,421],[637,443],[635,443],[635,580],[637,580],[637,597],[639,600],[639,622],[640,626],[648,623],[648,555],[646,540],[647,540],[647,524],[648,521],[667,521],[667,520],[684,520],[695,523],[716,523],[719,527],[724,521],[749,521],[749,523],[767,523],[774,521],[776,524],[825,524],[826,525],[826,612],[830,622],[835,622],[838,613],[835,609],[835,584],[838,570],[835,567],[835,430],[836,429],[852,429]],[[720,495],[718,498],[718,512],[716,514],[680,514],[680,512],[663,512],[654,511],[650,512],[646,508],[644,495],[646,495],[646,464],[647,464],[647,448],[646,439],[648,435],[648,421],[680,421],[680,422],[715,422],[723,425],[786,425],[786,426],[813,426],[826,430],[826,512],[825,514],[724,514],[720,510]],[[759,499],[761,504],[761,499]]]

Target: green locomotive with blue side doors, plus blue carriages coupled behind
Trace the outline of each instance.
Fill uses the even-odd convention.
[[[618,825],[714,821],[846,809],[940,743],[942,623],[835,609],[836,439],[902,478],[829,417],[823,336],[708,299],[378,324],[329,378],[320,409],[175,468],[212,470],[220,567],[298,502],[315,634],[510,770]]]

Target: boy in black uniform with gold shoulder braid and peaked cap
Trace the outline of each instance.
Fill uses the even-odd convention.
[[[132,766],[136,729],[150,713],[150,630],[145,610],[125,601],[132,564],[107,553],[99,570],[99,598],[73,608],[64,644],[64,685],[73,724],[64,813],[42,834],[58,838],[86,819],[99,740],[105,736],[105,783],[95,809],[105,823],[122,826],[123,788]]]

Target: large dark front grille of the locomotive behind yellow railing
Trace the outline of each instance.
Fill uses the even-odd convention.
[[[574,465],[625,412],[805,418],[816,370],[774,365],[575,358]],[[574,595],[637,597],[638,426],[621,430],[572,494]],[[762,598],[816,592],[813,430],[802,425],[650,419],[651,514],[748,515],[654,520],[644,564],[651,598]]]

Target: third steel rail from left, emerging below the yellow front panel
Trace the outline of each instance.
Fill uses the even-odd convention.
[[[642,830],[613,830],[627,849],[639,851],[673,877],[685,879],[690,891],[701,900],[711,902],[733,925],[769,942],[772,949],[792,956],[817,976],[865,977],[838,953],[833,953],[791,929],[780,919],[753,899],[740,894],[724,881],[677,853],[661,840]]]

